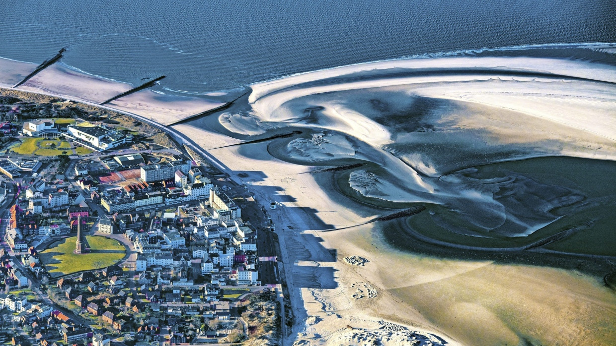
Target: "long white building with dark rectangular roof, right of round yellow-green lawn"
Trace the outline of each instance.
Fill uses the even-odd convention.
[[[68,136],[76,139],[76,143],[97,151],[112,149],[132,141],[132,135],[124,135],[121,131],[110,130],[87,122],[68,125]]]

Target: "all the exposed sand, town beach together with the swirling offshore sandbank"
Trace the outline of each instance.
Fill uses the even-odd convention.
[[[23,73],[17,71],[0,68],[0,82],[10,84]],[[87,87],[81,76],[46,73],[23,90],[100,100],[127,87]],[[430,203],[441,209],[427,217],[455,214],[457,228],[441,223],[445,231],[480,243],[528,237],[559,220],[554,210],[599,204],[574,184],[510,171],[473,178],[472,170],[543,156],[616,160],[615,85],[616,69],[581,61],[381,61],[255,84],[246,104],[172,129],[209,149],[217,167],[261,205],[277,202],[270,214],[294,315],[284,345],[610,345],[616,294],[591,274],[598,270],[582,270],[595,263],[584,254],[561,267],[535,253],[518,262],[452,258],[440,256],[447,248],[392,246],[385,235],[394,222],[323,230]],[[110,106],[161,124],[213,107],[151,94]],[[302,133],[222,147],[290,130]],[[307,173],[350,162],[362,166],[326,178]]]

